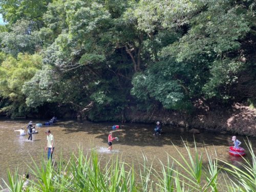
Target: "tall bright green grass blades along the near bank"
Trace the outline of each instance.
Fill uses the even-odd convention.
[[[94,150],[84,155],[81,148],[68,160],[60,157],[53,163],[32,161],[28,165],[32,177],[27,191],[256,191],[256,159],[250,142],[246,143],[247,153],[252,159],[244,158],[242,168],[219,160],[215,151],[210,153],[206,148],[207,162],[203,164],[196,142],[193,152],[183,142],[187,157],[176,148],[182,161],[167,154],[166,164],[159,161],[161,170],[148,163],[145,155],[135,172],[134,166],[120,156],[101,164]],[[5,184],[10,191],[22,191],[23,179],[17,173],[8,171],[9,184]]]

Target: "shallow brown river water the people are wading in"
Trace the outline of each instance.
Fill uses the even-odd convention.
[[[115,123],[92,123],[88,121],[60,120],[52,126],[42,126],[37,129],[38,134],[33,134],[33,140],[28,140],[28,135],[19,136],[20,128],[25,128],[29,120],[0,120],[0,178],[7,180],[7,169],[10,168],[14,173],[15,167],[21,172],[27,172],[27,165],[32,162],[31,157],[39,162],[42,155],[47,158],[44,147],[46,146],[46,129],[50,129],[55,139],[55,152],[53,159],[58,159],[60,154],[69,158],[70,154],[77,150],[77,146],[83,148],[84,154],[90,153],[94,147],[101,156],[101,161],[108,161],[113,154],[122,156],[127,163],[134,163],[135,169],[139,163],[143,162],[144,154],[148,161],[156,162],[154,168],[160,170],[161,165],[158,161],[167,163],[167,154],[182,160],[173,144],[179,152],[186,156],[187,152],[183,140],[188,142],[191,151],[194,150],[194,137],[199,151],[204,153],[204,146],[213,153],[217,152],[218,158],[226,160],[233,164],[242,161],[241,157],[232,157],[228,154],[231,145],[232,134],[214,133],[200,130],[201,133],[193,137],[182,127],[163,126],[163,134],[153,136],[154,124],[134,124],[134,123],[116,123],[120,125],[114,137],[119,141],[113,142],[113,151],[106,150],[108,147],[108,133],[112,131],[112,125]],[[44,120],[33,120],[33,123],[44,123]],[[27,130],[26,130],[27,131]],[[242,142],[242,147],[246,148],[244,139],[246,137],[238,136]],[[249,138],[255,150],[256,139]],[[188,156],[186,156],[188,158]],[[204,163],[207,162],[206,155]],[[3,185],[1,179],[0,184]]]

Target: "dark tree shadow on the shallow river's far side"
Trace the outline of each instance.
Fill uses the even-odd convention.
[[[118,123],[116,123],[118,124]],[[71,134],[74,132],[86,132],[87,134],[97,135],[95,138],[105,141],[113,124],[109,123],[90,123],[90,122],[65,122],[60,126],[65,127],[63,132]],[[114,137],[119,138],[119,144],[133,146],[162,146],[178,145],[183,146],[182,140],[187,141],[190,147],[194,147],[194,138],[198,146],[203,145],[225,145],[230,146],[230,134],[221,134],[200,130],[200,134],[193,135],[188,133],[183,127],[163,126],[161,135],[154,136],[154,124],[119,124],[120,128],[114,131]]]

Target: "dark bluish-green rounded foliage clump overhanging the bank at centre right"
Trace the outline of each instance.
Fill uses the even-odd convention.
[[[144,74],[133,78],[131,94],[144,100],[148,96],[153,97],[166,109],[189,109],[189,91],[183,84],[184,80],[188,80],[189,71],[189,66],[171,59],[157,62]]]

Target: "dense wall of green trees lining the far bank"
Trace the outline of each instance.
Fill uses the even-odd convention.
[[[0,29],[0,108],[7,115],[49,106],[55,114],[62,106],[114,120],[130,106],[192,111],[199,99],[212,107],[255,98],[253,0],[22,0],[0,7],[7,22]]]

